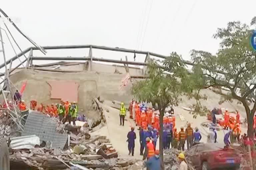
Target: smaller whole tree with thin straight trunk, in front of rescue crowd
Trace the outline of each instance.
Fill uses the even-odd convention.
[[[183,82],[188,74],[181,57],[172,53],[163,65],[171,70],[166,74],[155,60],[151,60],[147,67],[148,78],[133,84],[132,94],[139,101],[154,103],[160,112],[160,158],[163,165],[163,116],[165,109],[170,106],[178,106],[181,95],[191,93],[190,86]]]

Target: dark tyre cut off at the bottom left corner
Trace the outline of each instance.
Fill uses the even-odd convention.
[[[9,149],[6,139],[0,139],[0,169],[10,170]]]

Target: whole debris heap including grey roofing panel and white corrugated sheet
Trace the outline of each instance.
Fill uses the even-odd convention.
[[[129,169],[131,160],[119,159],[110,140],[91,136],[89,126],[62,125],[31,112],[22,136],[10,138],[10,164],[20,170]]]

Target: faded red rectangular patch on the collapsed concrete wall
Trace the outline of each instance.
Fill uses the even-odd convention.
[[[61,99],[69,102],[78,101],[79,84],[75,82],[47,81],[51,86],[51,99]]]

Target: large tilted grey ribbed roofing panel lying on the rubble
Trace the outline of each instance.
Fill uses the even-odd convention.
[[[31,112],[28,115],[22,136],[37,135],[40,141],[52,141],[53,148],[63,149],[68,135],[58,133],[55,129],[57,122],[39,112]]]

